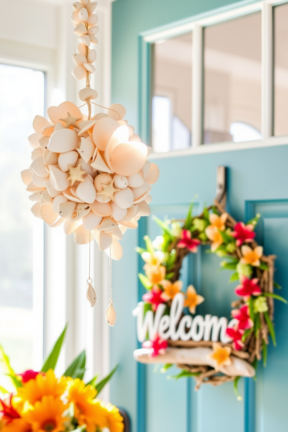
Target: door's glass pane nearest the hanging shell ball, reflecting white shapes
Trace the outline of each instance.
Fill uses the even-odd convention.
[[[155,44],[152,147],[155,152],[191,145],[192,33]]]

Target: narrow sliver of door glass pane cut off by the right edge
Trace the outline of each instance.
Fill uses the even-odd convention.
[[[274,135],[288,134],[288,4],[274,8]]]

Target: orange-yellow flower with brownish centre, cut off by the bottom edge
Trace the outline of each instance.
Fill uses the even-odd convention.
[[[36,401],[34,407],[29,407],[22,417],[32,423],[33,432],[61,432],[67,417],[63,412],[68,408],[59,397],[43,396],[41,402]]]

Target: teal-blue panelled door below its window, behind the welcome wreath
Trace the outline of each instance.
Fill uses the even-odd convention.
[[[288,299],[288,146],[215,152],[155,160],[160,168],[152,187],[152,214],[183,217],[194,198],[200,213],[215,196],[216,167],[228,167],[227,210],[236,220],[261,214],[257,240],[265,254],[276,254],[275,280]],[[197,196],[195,198],[195,196]],[[267,367],[259,366],[257,382],[241,379],[237,401],[232,384],[194,392],[192,378],[178,381],[136,364],[136,321],[131,311],[141,299],[137,273],[143,262],[134,247],[148,233],[159,233],[151,218],[141,218],[138,230],[123,239],[123,259],[113,266],[117,324],[111,329],[111,366],[120,364],[111,383],[111,400],[130,413],[133,432],[286,432],[288,431],[288,306],[275,302],[277,347],[268,347]],[[201,313],[230,315],[235,299],[228,272],[216,273],[219,258],[199,248],[182,271],[184,285],[193,283],[205,297]],[[176,371],[176,369],[175,369]],[[169,370],[169,375],[175,371]]]

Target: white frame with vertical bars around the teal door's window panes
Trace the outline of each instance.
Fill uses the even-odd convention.
[[[246,2],[245,2],[246,3]],[[270,146],[287,145],[288,136],[272,136],[272,7],[287,3],[287,0],[264,0],[255,3],[235,7],[230,5],[221,11],[209,11],[200,16],[185,19],[182,22],[172,23],[159,29],[141,33],[142,42],[153,44],[163,39],[176,37],[187,32],[193,32],[193,83],[192,83],[192,133],[193,144],[184,150],[172,150],[169,152],[155,153],[150,159],[165,159],[175,156],[205,154],[214,152],[227,152],[232,150],[253,149]],[[239,4],[239,3],[238,3]],[[225,9],[225,10],[223,10]],[[231,19],[262,13],[262,89],[261,89],[261,133],[262,140],[247,141],[241,143],[223,142],[205,144],[202,143],[203,128],[203,28],[229,21]],[[144,78],[143,78],[144,79]]]

